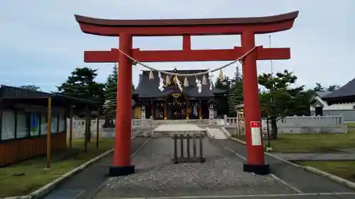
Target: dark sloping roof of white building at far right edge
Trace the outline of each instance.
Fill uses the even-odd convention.
[[[323,96],[322,99],[330,103],[355,102],[355,78],[332,93]]]

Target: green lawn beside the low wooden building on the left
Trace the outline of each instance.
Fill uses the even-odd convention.
[[[31,193],[85,161],[111,149],[114,147],[114,140],[100,140],[99,149],[96,149],[96,143],[92,140],[92,143],[88,144],[87,154],[83,151],[83,140],[73,140],[72,146],[72,149],[53,152],[51,169],[44,169],[45,156],[0,168],[0,197]]]

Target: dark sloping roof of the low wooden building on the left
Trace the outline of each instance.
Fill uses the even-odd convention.
[[[63,96],[55,93],[46,93],[43,91],[33,91],[30,89],[23,89],[14,86],[0,85],[0,98],[7,99],[40,99],[40,98],[53,98],[53,101],[58,101],[61,104],[70,104],[73,106],[81,106],[84,104],[98,105],[97,101],[89,101],[82,98],[74,98],[70,96]]]

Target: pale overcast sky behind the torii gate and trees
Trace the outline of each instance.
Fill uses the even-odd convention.
[[[288,69],[297,84],[310,88],[355,78],[355,1],[321,0],[3,0],[0,2],[0,84],[36,84],[54,91],[75,67],[99,69],[106,81],[113,64],[86,64],[84,50],[110,50],[118,38],[86,35],[74,14],[94,18],[229,18],[271,16],[300,11],[293,29],[274,33],[273,47],[291,47],[291,59],[273,62],[274,71]],[[192,37],[194,49],[232,48],[239,35]],[[256,36],[256,45],[269,46],[268,35]],[[181,37],[134,38],[141,50],[179,50]],[[225,62],[148,63],[158,69],[213,69]],[[224,69],[233,75],[235,66]],[[141,67],[133,67],[138,84]],[[258,73],[271,72],[270,61],[258,61]],[[217,76],[218,74],[216,74]]]

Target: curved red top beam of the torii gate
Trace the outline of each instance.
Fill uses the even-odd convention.
[[[119,33],[133,36],[238,35],[244,31],[275,33],[292,28],[297,16],[298,11],[253,18],[112,20],[75,15],[75,19],[84,33],[118,37]]]

